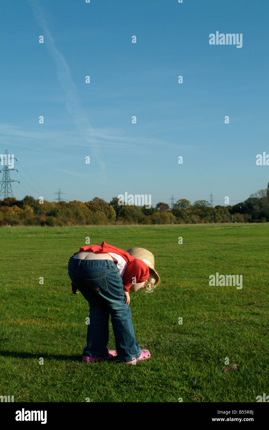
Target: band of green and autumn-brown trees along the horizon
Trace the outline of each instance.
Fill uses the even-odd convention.
[[[233,206],[211,207],[207,200],[179,199],[172,209],[159,202],[155,207],[118,204],[118,197],[107,203],[95,197],[89,202],[78,200],[49,202],[25,196],[0,200],[0,226],[3,225],[123,225],[123,224],[199,224],[269,221],[269,183],[265,190]]]

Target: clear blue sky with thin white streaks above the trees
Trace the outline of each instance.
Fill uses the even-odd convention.
[[[212,192],[217,205],[266,188],[268,12],[246,0],[3,2],[0,154],[18,159],[14,196],[128,192],[155,205]],[[242,47],[209,45],[216,31],[241,33]]]

